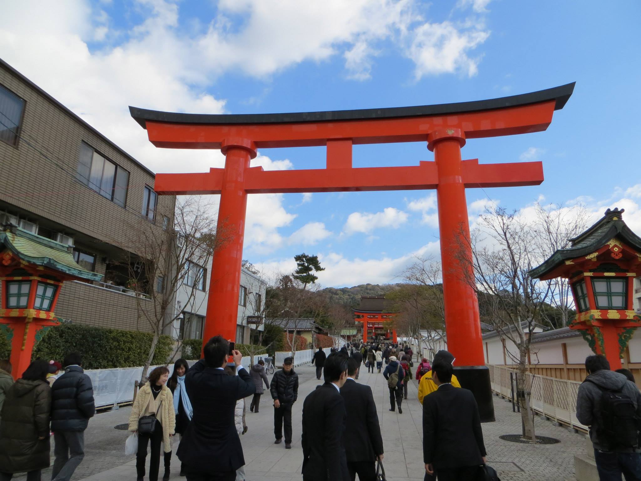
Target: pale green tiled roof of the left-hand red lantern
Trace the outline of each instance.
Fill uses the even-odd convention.
[[[103,278],[102,274],[80,267],[69,251],[69,246],[19,227],[10,226],[4,232],[0,232],[0,248],[8,248],[29,264],[48,267],[85,280],[99,281]]]

